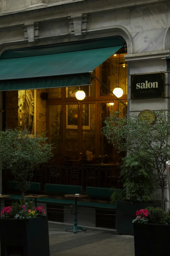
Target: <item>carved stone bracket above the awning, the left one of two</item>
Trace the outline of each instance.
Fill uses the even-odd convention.
[[[25,39],[27,39],[28,42],[35,42],[38,40],[38,36],[39,36],[38,22],[24,24],[23,30],[24,30]]]

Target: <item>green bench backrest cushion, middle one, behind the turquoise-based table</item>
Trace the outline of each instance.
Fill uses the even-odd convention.
[[[81,186],[72,185],[58,185],[58,184],[45,184],[46,193],[58,193],[58,194],[82,194]]]

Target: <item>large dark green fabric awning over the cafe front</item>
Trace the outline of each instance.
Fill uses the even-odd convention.
[[[1,59],[0,90],[90,85],[93,71],[122,45],[40,56]]]

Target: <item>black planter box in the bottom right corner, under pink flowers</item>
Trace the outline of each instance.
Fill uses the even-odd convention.
[[[170,225],[134,224],[135,256],[169,256]]]

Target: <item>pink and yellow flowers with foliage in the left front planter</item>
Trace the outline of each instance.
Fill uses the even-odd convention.
[[[21,200],[20,200],[21,203]],[[12,206],[5,207],[1,211],[1,218],[3,219],[31,219],[39,216],[46,216],[47,213],[44,211],[43,206],[34,207],[31,206],[32,202],[29,201],[24,205],[17,202],[12,203]]]

